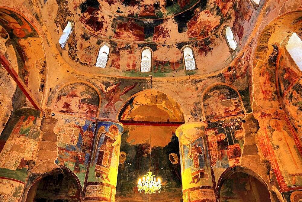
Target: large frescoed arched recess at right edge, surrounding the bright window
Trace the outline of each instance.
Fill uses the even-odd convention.
[[[300,38],[302,11],[292,11],[271,21],[259,36],[253,60],[252,108],[256,116],[265,110],[281,109],[299,136],[302,134],[302,74],[286,48],[289,37]],[[254,116],[255,116],[254,115]]]

